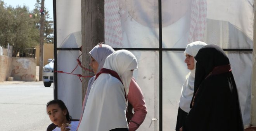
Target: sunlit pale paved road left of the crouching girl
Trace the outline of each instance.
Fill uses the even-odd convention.
[[[54,99],[43,82],[0,82],[0,131],[46,131],[46,104]]]

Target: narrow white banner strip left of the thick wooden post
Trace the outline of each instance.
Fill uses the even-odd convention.
[[[81,0],[56,0],[57,48],[81,46]],[[57,52],[57,71],[71,73],[77,66],[78,50]],[[80,59],[81,60],[81,59]],[[72,74],[82,74],[77,67]],[[82,109],[82,83],[78,76],[57,73],[57,98],[67,106],[73,119],[80,119]]]

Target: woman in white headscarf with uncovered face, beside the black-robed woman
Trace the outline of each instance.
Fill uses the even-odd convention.
[[[195,55],[198,50],[207,45],[204,42],[196,41],[187,45],[184,54],[186,55],[185,63],[187,64],[187,68],[190,70],[187,75],[187,79],[185,83],[182,85],[182,94],[180,96],[177,123],[176,123],[176,131],[179,131],[185,122],[185,118],[190,111],[190,102],[194,93],[194,82],[195,82]]]

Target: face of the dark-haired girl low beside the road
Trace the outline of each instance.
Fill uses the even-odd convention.
[[[67,123],[67,110],[62,111],[58,104],[50,104],[47,107],[47,114],[49,115],[52,123],[58,127],[61,127],[62,123]]]

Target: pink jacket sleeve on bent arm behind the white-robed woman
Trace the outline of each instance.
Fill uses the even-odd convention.
[[[134,111],[134,114],[132,116],[131,114],[132,109],[130,108],[129,110],[129,106],[128,106],[128,114],[131,114],[132,116],[129,123],[129,131],[135,131],[136,129],[138,129],[140,124],[143,123],[147,114],[147,107],[146,107],[146,103],[145,103],[145,99],[142,94],[142,91],[134,78],[131,79],[127,98],[128,98],[128,102],[133,106],[133,111]]]

